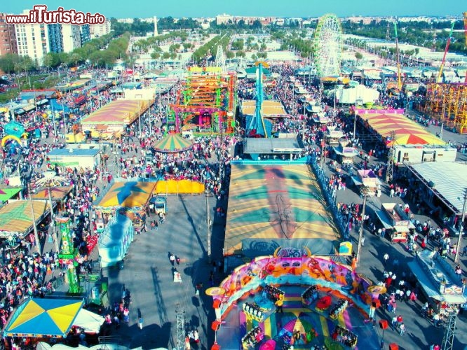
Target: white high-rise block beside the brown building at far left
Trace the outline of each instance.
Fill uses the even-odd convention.
[[[50,51],[48,25],[36,23],[15,25],[15,36],[18,55],[29,56],[37,64],[43,64],[43,57]]]

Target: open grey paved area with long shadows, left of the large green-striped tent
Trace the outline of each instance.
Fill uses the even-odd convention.
[[[208,197],[209,210],[214,214],[215,199]],[[208,349],[210,321],[214,319],[212,298],[204,293],[195,295],[197,283],[209,287],[212,265],[208,264],[207,228],[205,224],[205,195],[169,197],[168,215],[158,231],[137,235],[130,247],[125,267],[104,270],[109,277],[109,300],[119,300],[123,285],[130,290],[132,304],[130,323],[123,325],[119,334],[131,348],[142,346],[154,349],[177,346],[176,313],[185,311],[187,327],[200,332],[200,349]],[[149,218],[151,220],[151,218]],[[224,223],[215,218],[212,251],[214,257],[222,252]],[[174,283],[168,253],[180,257],[175,268],[182,274],[182,283]],[[216,276],[217,283],[220,276]],[[137,330],[137,315],[144,318],[144,329]],[[140,335],[144,335],[141,337]]]

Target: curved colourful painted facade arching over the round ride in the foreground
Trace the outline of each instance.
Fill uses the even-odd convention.
[[[235,302],[266,285],[306,285],[330,288],[350,299],[362,311],[370,308],[372,282],[352,267],[330,257],[311,255],[307,248],[278,248],[274,255],[260,256],[234,269],[213,295],[218,318],[224,318]]]

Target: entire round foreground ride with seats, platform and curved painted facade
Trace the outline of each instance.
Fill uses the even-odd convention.
[[[368,318],[377,294],[374,287],[378,286],[335,258],[311,255],[306,247],[280,247],[273,255],[237,267],[206,294],[213,297],[212,329],[219,346],[234,346],[231,332],[239,327],[236,335],[243,349],[251,344],[266,346],[271,340],[279,346],[271,349],[292,344],[295,349],[310,349],[348,339],[331,337],[334,333],[352,334],[346,345],[356,346],[358,335],[367,331],[353,334],[352,324]],[[377,336],[370,332],[367,349],[379,349]]]

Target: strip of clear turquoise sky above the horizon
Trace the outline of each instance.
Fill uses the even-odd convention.
[[[106,17],[210,17],[230,15],[318,17],[325,13],[349,15],[461,15],[461,0],[6,0],[0,12],[21,13],[37,4],[49,10],[58,6],[69,10],[101,13]]]

